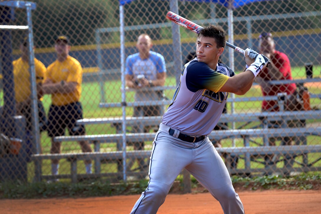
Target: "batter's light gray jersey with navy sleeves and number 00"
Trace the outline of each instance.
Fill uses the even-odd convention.
[[[234,72],[222,63],[217,64],[216,71],[197,58],[187,63],[162,123],[192,136],[210,134],[229,95],[218,91],[233,75]]]

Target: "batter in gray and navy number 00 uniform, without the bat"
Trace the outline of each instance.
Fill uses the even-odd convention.
[[[207,135],[220,119],[229,92],[245,94],[268,59],[258,55],[245,72],[229,77],[230,68],[218,63],[225,44],[220,26],[206,26],[198,34],[197,58],[181,71],[153,142],[148,186],[131,213],[156,213],[183,168],[220,202],[224,213],[244,213],[227,168]]]

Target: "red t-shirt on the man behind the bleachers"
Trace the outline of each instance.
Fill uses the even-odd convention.
[[[282,73],[283,77],[281,80],[292,80],[292,74],[291,74],[291,65],[289,58],[280,51],[275,51],[274,57],[272,59],[273,64],[279,69],[279,71]],[[262,77],[264,80],[275,80],[274,76],[270,76],[267,73],[267,69],[263,69],[258,76]],[[269,92],[269,94],[266,94],[263,90],[263,96],[274,96],[277,95],[277,93],[285,92],[287,94],[293,94],[293,92],[296,90],[295,83],[291,84],[283,84],[283,85],[272,85],[272,88]],[[277,104],[277,101],[271,100],[271,101],[263,101],[262,103],[262,110],[263,111],[279,111],[279,108],[276,107],[273,109],[274,105]],[[271,108],[271,109],[270,109]]]

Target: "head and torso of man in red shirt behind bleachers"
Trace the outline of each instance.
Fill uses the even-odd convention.
[[[263,96],[275,96],[285,92],[293,94],[296,90],[295,83],[282,85],[269,85],[269,80],[292,80],[289,58],[282,52],[275,50],[271,33],[262,33],[259,38],[261,54],[271,60],[271,65],[263,69],[257,76],[256,82],[261,86]],[[263,101],[262,111],[279,111],[277,101]]]

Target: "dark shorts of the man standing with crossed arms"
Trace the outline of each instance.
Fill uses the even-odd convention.
[[[85,127],[76,126],[76,120],[83,119],[82,105],[79,102],[62,106],[51,105],[48,113],[48,135],[57,137],[65,135],[67,128],[70,135],[84,135]]]

